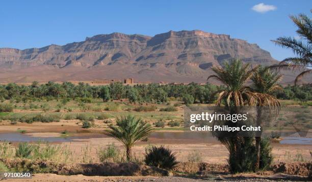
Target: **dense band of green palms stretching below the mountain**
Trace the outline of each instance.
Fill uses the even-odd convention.
[[[90,85],[80,82],[77,85],[71,82],[55,83],[49,81],[39,84],[34,81],[31,85],[18,85],[8,83],[0,85],[0,99],[16,99],[20,101],[33,98],[52,97],[59,98],[101,98],[103,101],[128,99],[132,103],[165,103],[170,98],[180,99],[186,104],[213,103],[217,98],[215,94],[224,86],[206,83],[190,83],[188,85],[162,85],[157,83],[138,84],[134,86],[123,85],[121,82],[110,85]],[[282,90],[277,90],[272,95],[277,99],[285,100],[312,100],[312,84],[301,86],[288,85]]]

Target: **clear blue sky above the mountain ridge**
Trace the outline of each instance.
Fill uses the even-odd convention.
[[[281,60],[292,52],[270,40],[296,36],[288,15],[310,16],[311,8],[310,0],[1,1],[0,47],[64,45],[113,32],[154,36],[200,29],[256,43]]]

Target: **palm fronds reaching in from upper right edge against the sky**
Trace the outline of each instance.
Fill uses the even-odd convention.
[[[312,10],[311,10],[312,13]],[[293,37],[279,37],[273,42],[281,47],[292,49],[298,57],[285,58],[278,65],[273,65],[271,68],[301,68],[312,67],[312,19],[304,14],[298,16],[290,16],[292,21],[298,27],[297,34],[301,40]],[[312,73],[311,69],[305,69],[295,79],[295,85],[300,79]]]

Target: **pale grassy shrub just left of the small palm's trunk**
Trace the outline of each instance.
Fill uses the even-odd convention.
[[[121,162],[120,150],[114,143],[108,144],[106,148],[99,148],[97,150],[97,157],[101,162]]]

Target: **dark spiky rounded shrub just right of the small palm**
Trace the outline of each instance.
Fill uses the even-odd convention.
[[[149,166],[156,166],[163,169],[172,169],[178,164],[175,154],[169,148],[164,146],[153,146],[146,150],[145,163]]]

